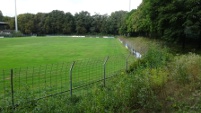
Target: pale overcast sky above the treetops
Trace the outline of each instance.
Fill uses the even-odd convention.
[[[17,14],[49,13],[52,10],[61,10],[72,14],[88,11],[93,15],[129,10],[129,0],[16,0],[16,2]],[[131,0],[131,9],[136,9],[141,2],[142,0]],[[0,0],[0,10],[4,16],[14,16],[15,0]]]

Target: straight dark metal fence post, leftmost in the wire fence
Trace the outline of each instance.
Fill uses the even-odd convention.
[[[14,112],[15,103],[14,103],[14,86],[13,86],[13,69],[10,70],[10,85],[11,85],[11,99],[12,99],[12,110]]]

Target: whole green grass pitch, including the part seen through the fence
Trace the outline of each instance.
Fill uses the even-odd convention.
[[[14,100],[19,103],[68,91],[73,61],[73,89],[103,83],[106,56],[108,78],[125,70],[128,50],[117,39],[34,37],[0,39],[0,53],[0,106],[4,106],[11,102],[11,68]]]

